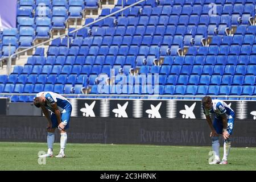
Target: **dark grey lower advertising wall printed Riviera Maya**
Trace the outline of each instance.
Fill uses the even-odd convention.
[[[0,141],[46,142],[46,126],[45,117],[1,116]],[[236,120],[232,146],[255,147],[255,131],[255,121]],[[55,142],[59,143],[59,132],[55,133]],[[205,119],[72,117],[68,143],[211,146],[209,134]]]

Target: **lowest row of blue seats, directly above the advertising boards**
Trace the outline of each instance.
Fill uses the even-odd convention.
[[[2,84],[0,84],[0,90],[2,89]],[[12,93],[28,93],[30,90],[33,90],[33,93],[38,93],[40,90],[45,90],[49,92],[56,92],[56,93],[76,93],[80,94],[82,89],[82,84],[76,84],[74,87],[72,84],[6,84],[5,90],[8,90]],[[105,85],[102,86],[102,88],[99,88],[98,85],[92,86],[92,91],[90,94],[109,94],[109,93],[118,93],[118,94],[154,94],[154,89],[158,90],[155,94],[170,94],[174,95],[196,95],[196,94],[213,94],[213,95],[223,95],[225,96],[249,96],[251,93],[256,95],[254,86],[246,85],[246,86],[227,86],[227,85],[159,85],[157,88],[154,88],[150,85],[115,85],[115,86],[109,86]],[[8,92],[7,91],[7,92]],[[31,102],[32,98],[34,96],[13,96],[11,97],[11,101],[21,101],[21,102]],[[88,97],[91,98],[89,95],[82,96],[82,97]],[[159,96],[156,96],[158,98],[162,98]],[[129,97],[125,97],[129,98]],[[131,98],[131,97],[130,97]],[[136,97],[134,97],[136,98]],[[166,98],[166,97],[163,97]],[[172,97],[170,97],[172,98]],[[182,97],[181,97],[182,98]],[[237,100],[237,98],[229,98],[230,100]],[[244,98],[242,98],[244,99]],[[255,100],[255,98],[253,98]]]

